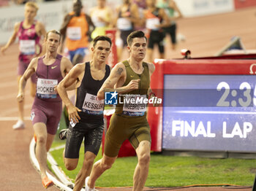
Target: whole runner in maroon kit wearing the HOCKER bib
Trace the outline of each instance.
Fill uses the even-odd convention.
[[[53,143],[62,112],[62,101],[54,88],[72,68],[69,59],[57,53],[60,41],[59,31],[48,31],[45,37],[45,55],[31,61],[20,78],[17,96],[18,101],[23,101],[26,81],[36,73],[37,95],[31,109],[31,120],[37,136],[36,157],[44,187],[49,187],[53,183],[46,174],[47,152]]]

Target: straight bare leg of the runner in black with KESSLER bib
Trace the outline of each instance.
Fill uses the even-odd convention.
[[[80,169],[75,179],[75,187],[73,190],[80,191],[84,185],[84,181],[87,176],[91,174],[92,165],[94,165],[94,159],[96,155],[92,152],[86,152],[84,155],[83,166]]]

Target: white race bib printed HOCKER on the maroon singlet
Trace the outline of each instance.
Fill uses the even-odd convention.
[[[37,79],[37,97],[38,98],[57,98],[54,87],[58,85],[57,79]]]

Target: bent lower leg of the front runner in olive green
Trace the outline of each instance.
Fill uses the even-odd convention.
[[[104,154],[102,159],[94,163],[94,166],[92,168],[91,175],[88,181],[88,186],[90,188],[94,188],[95,182],[99,178],[99,176],[101,176],[106,170],[111,168],[111,166],[116,160],[116,157],[108,157]]]

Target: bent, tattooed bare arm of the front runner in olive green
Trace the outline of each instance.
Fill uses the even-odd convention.
[[[126,71],[125,71],[125,66],[123,63],[118,63],[116,66],[112,69],[110,72],[110,76],[105,80],[103,83],[102,87],[100,87],[97,97],[99,100],[104,99],[104,94],[105,92],[113,92],[116,91],[117,93],[128,93],[131,90],[136,90],[138,89],[139,81],[140,79],[132,79],[128,85],[123,86],[123,87],[118,87],[121,86],[120,84],[118,85],[118,81],[125,77]],[[116,88],[114,88],[116,86]]]

